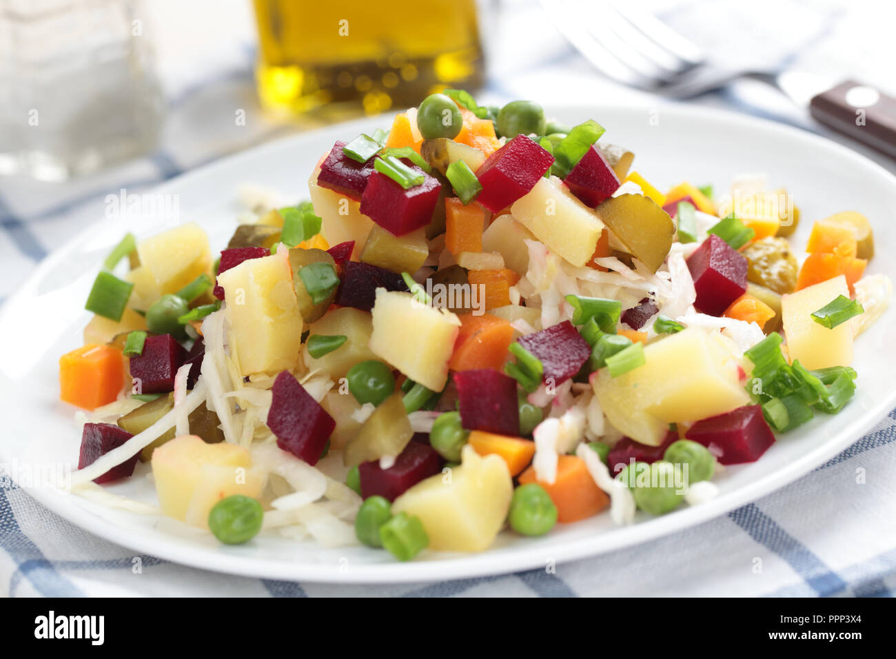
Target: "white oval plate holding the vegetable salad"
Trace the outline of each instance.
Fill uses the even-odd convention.
[[[832,212],[864,212],[874,225],[878,256],[870,272],[896,278],[896,178],[854,152],[785,126],[739,115],[686,106],[669,108],[556,108],[570,123],[587,117],[607,126],[604,140],[625,144],[636,154],[636,169],[660,188],[690,180],[725,191],[744,172],[765,171],[772,186],[786,186],[802,212],[794,244],[805,245],[814,220]],[[266,144],[220,160],[160,186],[176,195],[182,221],[198,221],[212,246],[223,247],[236,225],[237,186],[246,182],[306,196],[314,162],[336,139],[384,126],[386,118],[332,126]],[[4,464],[75,464],[80,437],[74,409],[57,401],[59,355],[81,345],[88,320],[82,310],[102,258],[127,230],[138,237],[159,230],[151,216],[106,220],[61,246],[0,315],[0,409]],[[798,250],[797,250],[798,251]],[[401,564],[384,551],[366,548],[322,550],[310,542],[259,536],[241,547],[223,547],[209,534],[170,519],[98,507],[49,488],[29,488],[45,506],[76,525],[134,551],[178,563],[238,575],[327,582],[414,582],[543,568],[547,561],[593,556],[603,551],[679,531],[758,499],[848,447],[896,405],[896,333],[893,312],[857,342],[859,374],[855,399],[840,414],[814,421],[781,438],[757,463],[729,467],[717,479],[718,499],[625,527],[607,515],[558,525],[547,537],[523,539],[506,533],[480,554],[428,553]],[[116,493],[154,502],[151,483],[137,476],[109,487]],[[794,506],[804,505],[794,501]]]

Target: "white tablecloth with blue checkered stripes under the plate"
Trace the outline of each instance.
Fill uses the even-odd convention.
[[[101,217],[109,192],[124,187],[139,193],[205,162],[295,130],[271,123],[257,109],[253,19],[247,4],[238,0],[151,4],[155,33],[149,36],[157,40],[159,75],[168,100],[157,152],[66,184],[0,178],[0,303],[55,245]],[[537,4],[524,0],[497,4],[483,98],[551,98],[558,104],[645,98],[599,78],[547,27]],[[186,29],[191,22],[207,20],[212,5],[217,18],[209,39],[202,38],[203,30]],[[737,50],[733,43],[758,39],[777,68],[822,69],[834,78],[850,75],[880,85],[892,83],[896,53],[886,30],[893,16],[889,20],[881,16],[885,11],[881,4],[873,12],[861,3],[847,7],[824,0],[809,9],[791,0],[755,0],[748,6],[730,0],[658,0],[648,5],[719,57]],[[521,30],[536,32],[532,39],[520,39]],[[828,134],[807,118],[805,108],[758,82],[737,82],[692,102]],[[246,126],[234,126],[233,108],[246,109]],[[857,150],[896,172],[892,160]],[[556,574],[538,569],[413,585],[221,578],[151,556],[140,557],[142,570],[135,574],[133,551],[69,524],[0,473],[0,594],[891,596],[896,589],[894,440],[896,411],[842,454],[768,497],[681,533],[561,564]]]

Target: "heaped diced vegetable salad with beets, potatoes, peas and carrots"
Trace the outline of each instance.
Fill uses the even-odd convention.
[[[604,132],[445,90],[333,144],[309,201],[244,191],[226,246],[125,236],[59,361],[74,490],[408,560],[698,505],[849,404],[892,296],[866,217],[797,249],[784,190],[664,193]],[[150,471],[158,507],[99,487]]]

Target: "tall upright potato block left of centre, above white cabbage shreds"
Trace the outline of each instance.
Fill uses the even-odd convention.
[[[294,369],[302,347],[302,316],[288,251],[252,258],[218,275],[224,288],[229,340],[241,374]]]

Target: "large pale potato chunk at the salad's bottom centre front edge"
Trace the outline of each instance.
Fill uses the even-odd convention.
[[[392,503],[417,516],[435,551],[484,551],[495,541],[513,498],[513,481],[498,455],[463,447],[461,466],[420,481]]]

